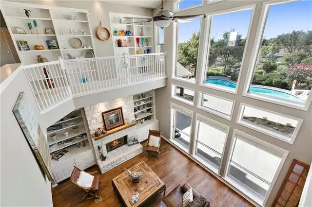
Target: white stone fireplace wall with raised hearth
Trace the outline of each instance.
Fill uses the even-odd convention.
[[[86,119],[89,125],[91,135],[93,135],[99,127],[103,127],[103,120],[102,120],[101,113],[107,110],[118,108],[118,107],[122,107],[122,113],[123,113],[125,122],[128,117],[131,120],[135,119],[135,114],[133,111],[134,104],[133,104],[132,96],[126,96],[126,97],[118,98],[115,100],[84,107]],[[106,146],[105,146],[106,143],[113,141],[117,138],[121,138],[125,135],[128,135],[129,137],[136,136],[137,135],[136,126],[121,130],[112,135],[106,136],[105,138],[101,138],[97,141],[94,140],[94,138],[91,138],[92,144],[95,150],[95,154],[97,157],[98,167],[101,173],[104,173],[112,169],[113,167],[119,165],[120,163],[142,153],[142,145],[140,144],[130,146],[130,147],[128,145],[123,145],[109,153],[106,152]],[[98,154],[98,145],[102,145],[103,154],[104,156],[107,156],[105,161],[100,160],[100,157]]]

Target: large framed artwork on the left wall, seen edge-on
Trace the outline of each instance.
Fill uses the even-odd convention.
[[[20,92],[18,100],[14,105],[13,113],[39,163],[39,167],[48,177],[49,181],[51,181],[53,178],[51,173],[49,146],[44,138],[38,120],[34,116],[32,108],[27,101],[24,91]]]

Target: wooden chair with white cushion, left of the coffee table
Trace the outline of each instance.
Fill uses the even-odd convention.
[[[92,172],[92,173],[97,173],[97,171]],[[92,176],[91,175],[92,173],[86,173],[80,170],[78,167],[74,166],[74,170],[70,176],[70,182],[74,183],[80,189],[85,191],[83,193],[81,202],[87,199],[91,199],[91,198],[95,198],[96,202],[97,202],[97,199],[101,200],[101,197],[97,195],[98,185],[101,182],[99,182],[99,176],[98,175]],[[92,180],[92,177],[93,177],[93,180]]]

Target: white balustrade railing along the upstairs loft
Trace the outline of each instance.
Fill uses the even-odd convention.
[[[71,99],[166,77],[164,52],[23,66],[41,113]]]

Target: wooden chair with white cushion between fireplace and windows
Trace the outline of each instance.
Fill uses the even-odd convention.
[[[156,138],[159,138],[158,140]],[[146,145],[143,147],[143,151],[148,155],[149,153],[154,154],[159,158],[161,153],[160,149],[160,139],[161,139],[161,131],[157,130],[149,130],[148,139]]]

